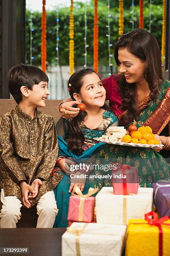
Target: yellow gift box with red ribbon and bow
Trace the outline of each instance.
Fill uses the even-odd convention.
[[[152,215],[154,219],[150,219]],[[170,256],[170,219],[149,212],[145,220],[129,220],[126,256]]]

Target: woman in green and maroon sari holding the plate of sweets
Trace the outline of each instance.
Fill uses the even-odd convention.
[[[149,125],[164,148],[153,150],[106,144],[98,154],[97,164],[118,161],[137,166],[140,185],[150,187],[158,179],[170,179],[170,166],[160,154],[164,151],[165,156],[170,156],[170,82],[162,78],[159,45],[145,30],[135,29],[121,36],[114,56],[122,74],[104,79],[103,85],[119,125],[126,128],[132,123],[137,127]],[[64,118],[76,115],[67,111],[72,110],[70,106],[71,102],[61,104],[60,112],[67,113]],[[96,170],[96,174],[101,171]],[[94,186],[99,189],[109,185],[108,180],[94,180]]]

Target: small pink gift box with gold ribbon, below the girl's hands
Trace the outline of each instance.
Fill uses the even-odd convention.
[[[69,200],[68,220],[91,222],[94,219],[95,197],[71,196]]]

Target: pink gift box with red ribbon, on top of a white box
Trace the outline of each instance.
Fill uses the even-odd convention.
[[[112,186],[115,195],[137,194],[139,188],[137,167],[117,164],[117,169],[112,172]]]

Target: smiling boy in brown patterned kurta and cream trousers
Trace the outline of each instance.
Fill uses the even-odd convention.
[[[45,107],[48,77],[38,67],[20,64],[8,72],[8,87],[18,105],[0,116],[1,228],[16,228],[21,203],[37,203],[37,228],[52,228],[58,213],[53,188],[62,179],[53,168],[58,143]]]

